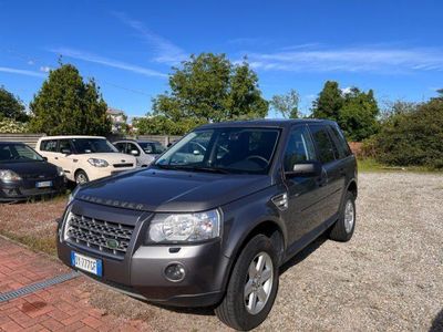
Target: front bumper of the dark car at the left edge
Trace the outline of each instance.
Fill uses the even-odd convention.
[[[52,181],[51,187],[37,188],[38,181]],[[66,180],[64,176],[55,178],[28,180],[23,179],[14,183],[0,181],[0,201],[17,201],[25,200],[35,196],[45,196],[63,193],[66,188]]]

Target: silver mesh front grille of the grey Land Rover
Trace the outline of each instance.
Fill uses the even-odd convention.
[[[66,236],[73,243],[123,258],[134,231],[133,226],[71,214]]]

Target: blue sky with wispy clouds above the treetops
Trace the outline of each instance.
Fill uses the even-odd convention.
[[[442,13],[440,0],[0,0],[0,85],[28,104],[62,55],[141,116],[172,66],[213,52],[247,56],[268,100],[297,90],[305,114],[327,80],[373,89],[381,107],[421,102],[443,87]]]

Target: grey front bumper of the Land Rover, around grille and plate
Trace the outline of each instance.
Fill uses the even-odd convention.
[[[122,214],[124,209],[81,203],[82,212],[96,209],[97,217],[121,211],[120,219],[135,221],[133,239],[124,258],[101,255],[90,248],[61,240],[58,237],[59,258],[71,266],[71,252],[102,260],[102,277],[84,272],[89,277],[143,300],[176,307],[208,307],[218,303],[224,295],[225,277],[230,261],[222,255],[219,240],[186,246],[143,246],[143,235],[150,218],[136,217],[135,212]],[[75,209],[75,205],[73,209]],[[106,211],[105,211],[106,210]],[[92,211],[93,212],[93,211]],[[59,226],[60,228],[60,226]],[[185,278],[179,282],[166,279],[165,269],[171,263],[185,268]]]

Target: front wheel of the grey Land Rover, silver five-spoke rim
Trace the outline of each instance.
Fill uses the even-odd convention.
[[[215,312],[228,326],[248,331],[268,317],[278,290],[278,257],[271,240],[258,235],[243,249],[226,295]]]

